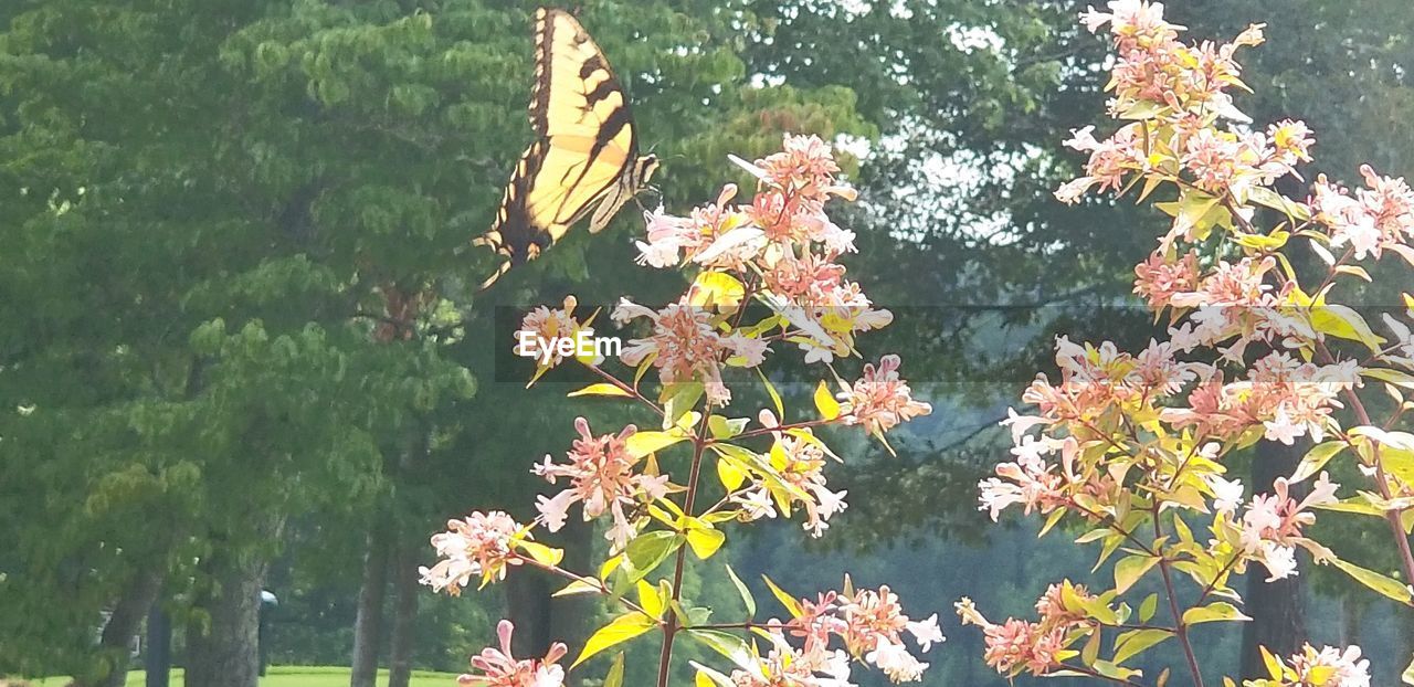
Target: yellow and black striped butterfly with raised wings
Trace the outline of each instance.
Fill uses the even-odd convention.
[[[658,168],[653,154],[639,157],[624,88],[584,27],[542,7],[534,35],[537,140],[520,155],[495,223],[472,242],[506,259],[481,288],[539,257],[590,211],[590,232],[604,229]]]

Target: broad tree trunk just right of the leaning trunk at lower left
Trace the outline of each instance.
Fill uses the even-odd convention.
[[[252,532],[279,539],[283,519],[257,515]],[[216,550],[201,565],[211,587],[197,595],[198,618],[187,629],[187,687],[257,687],[260,680],[260,588],[269,561],[253,551]],[[205,622],[202,622],[205,621]]]

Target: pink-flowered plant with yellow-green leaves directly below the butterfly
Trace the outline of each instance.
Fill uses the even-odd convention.
[[[714,204],[690,216],[646,215],[639,262],[696,274],[666,307],[625,298],[614,308],[612,321],[645,328],[621,351],[624,375],[594,356],[537,348],[547,353],[537,358],[532,383],[554,366],[583,365],[601,382],[570,396],[631,403],[648,413],[652,428],[628,425],[600,434],[583,417],[575,420],[578,438],[566,459],[546,457],[533,468],[561,488],[539,498],[534,522],[518,523],[501,512],[451,520],[447,532],[433,537],[440,561],[421,568],[423,582],[458,594],[472,580],[485,587],[510,568],[534,567],[564,578],[560,594],[609,598],[622,613],[590,636],[570,670],[658,632],[659,687],[669,681],[673,646],[683,638],[727,662],[723,670],[694,663],[700,687],[848,687],[851,662],[872,664],[895,683],[919,680],[928,664],[916,654],[943,640],[937,615],[909,618],[888,587],[857,589],[846,577],[841,589],[812,599],[765,580],[788,618],[756,619],[756,601],[727,567],[747,619],[714,622],[710,609],[683,598],[686,565],[711,558],[725,543],[728,524],[800,513],[803,527],[820,536],[846,509],[846,492],[831,489],[826,479],[826,465],[840,458],[816,428],[858,425],[885,441],[889,430],[932,410],[912,399],[898,356],[864,365],[853,383],[834,369],[836,359],[857,355],[858,334],[889,324],[892,315],[872,307],[836,262],[854,250],[854,235],[834,225],[824,205],[831,198],[853,199],[854,191],[836,180],[839,167],[829,146],[813,136],[788,136],[781,153],[755,164],[735,161],[758,180],[749,202],[731,205],[737,188],[727,185]],[[530,312],[520,332],[533,336],[518,341],[546,342],[590,331],[594,317],[578,319],[575,305],[571,297],[561,308]],[[761,372],[769,353],[792,348],[830,373],[831,382],[820,382],[814,392],[812,418],[792,420]],[[732,417],[728,372],[745,369],[755,370],[748,375],[759,377],[772,407]],[[656,384],[649,373],[656,373]],[[706,505],[700,496],[710,479],[706,475],[713,474],[721,496]],[[566,570],[561,550],[536,541],[537,530],[556,532],[570,517],[608,523],[609,556],[595,571]],[[564,645],[554,645],[540,660],[515,659],[512,630],[502,621],[501,647],[472,659],[474,670],[461,683],[564,684],[566,669],[559,666]],[[622,680],[621,653],[604,684],[619,687]]]

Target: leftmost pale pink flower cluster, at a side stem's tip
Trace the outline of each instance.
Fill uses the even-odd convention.
[[[482,585],[505,580],[509,565],[520,565],[520,558],[510,551],[512,539],[520,529],[509,515],[499,510],[448,520],[447,532],[433,534],[431,540],[443,560],[431,568],[417,568],[421,584],[433,591],[445,588],[455,597],[472,577],[479,575]]]

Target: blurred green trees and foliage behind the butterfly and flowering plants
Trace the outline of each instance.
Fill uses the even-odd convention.
[[[952,604],[1029,615],[1049,582],[1087,580],[1096,551],[977,512],[976,482],[1010,447],[995,423],[1049,369],[1055,334],[1147,341],[1128,294],[1164,226],[1147,208],[1051,195],[1080,163],[1059,141],[1104,112],[1107,45],[1077,27],[1085,3],[571,8],[625,82],[641,146],[663,158],[669,212],[742,182],[728,153],[765,155],[786,131],[837,144],[861,191],[834,209],[858,233],[846,263],[898,315],[865,358],[901,353],[935,407],[899,434],[898,457],[829,438],[847,458],[829,474],[850,509],[824,537],[771,522],[731,530],[723,556],[758,598],[761,574],[797,595],[846,572],[889,584],[949,635],[923,684],[1005,684]],[[464,246],[532,137],[533,11],[0,3],[0,676],[122,684],[113,667],[134,656],[140,669],[170,635],[188,684],[253,684],[225,666],[259,650],[271,676],[338,667],[286,670],[281,684],[370,686],[375,666],[390,669],[380,684],[450,684],[413,671],[465,669],[499,618],[516,622],[522,654],[573,647],[607,618],[594,601],[551,599],[534,574],[461,598],[416,574],[447,517],[532,517],[546,485],[529,466],[568,448],[575,414],[643,421],[566,400],[564,380],[525,390],[498,358],[512,345],[498,314],[570,293],[590,307],[660,303],[683,286],[633,264],[643,225],[629,206],[472,294],[492,260]],[[1410,171],[1407,0],[1193,0],[1168,16],[1189,40],[1267,24],[1268,44],[1241,55],[1256,93],[1237,106],[1261,126],[1311,124],[1308,180],[1356,178],[1362,163]],[[809,403],[812,372],[776,373]],[[762,403],[744,393],[734,410]],[[1258,445],[1241,461],[1236,472],[1270,483],[1292,455]],[[1366,520],[1322,516],[1321,537],[1393,572]],[[581,570],[602,553],[588,526],[551,541]],[[741,602],[720,558],[687,591],[731,618]],[[1408,663],[1414,613],[1339,572],[1307,564],[1294,581],[1237,588],[1256,621],[1195,633],[1215,679],[1253,670],[1257,642],[1304,638],[1362,645],[1376,684]],[[262,589],[277,598],[263,616]],[[650,683],[650,645],[635,645],[625,684]],[[1176,659],[1145,657],[1148,679]],[[571,684],[597,684],[578,676],[604,667]]]

